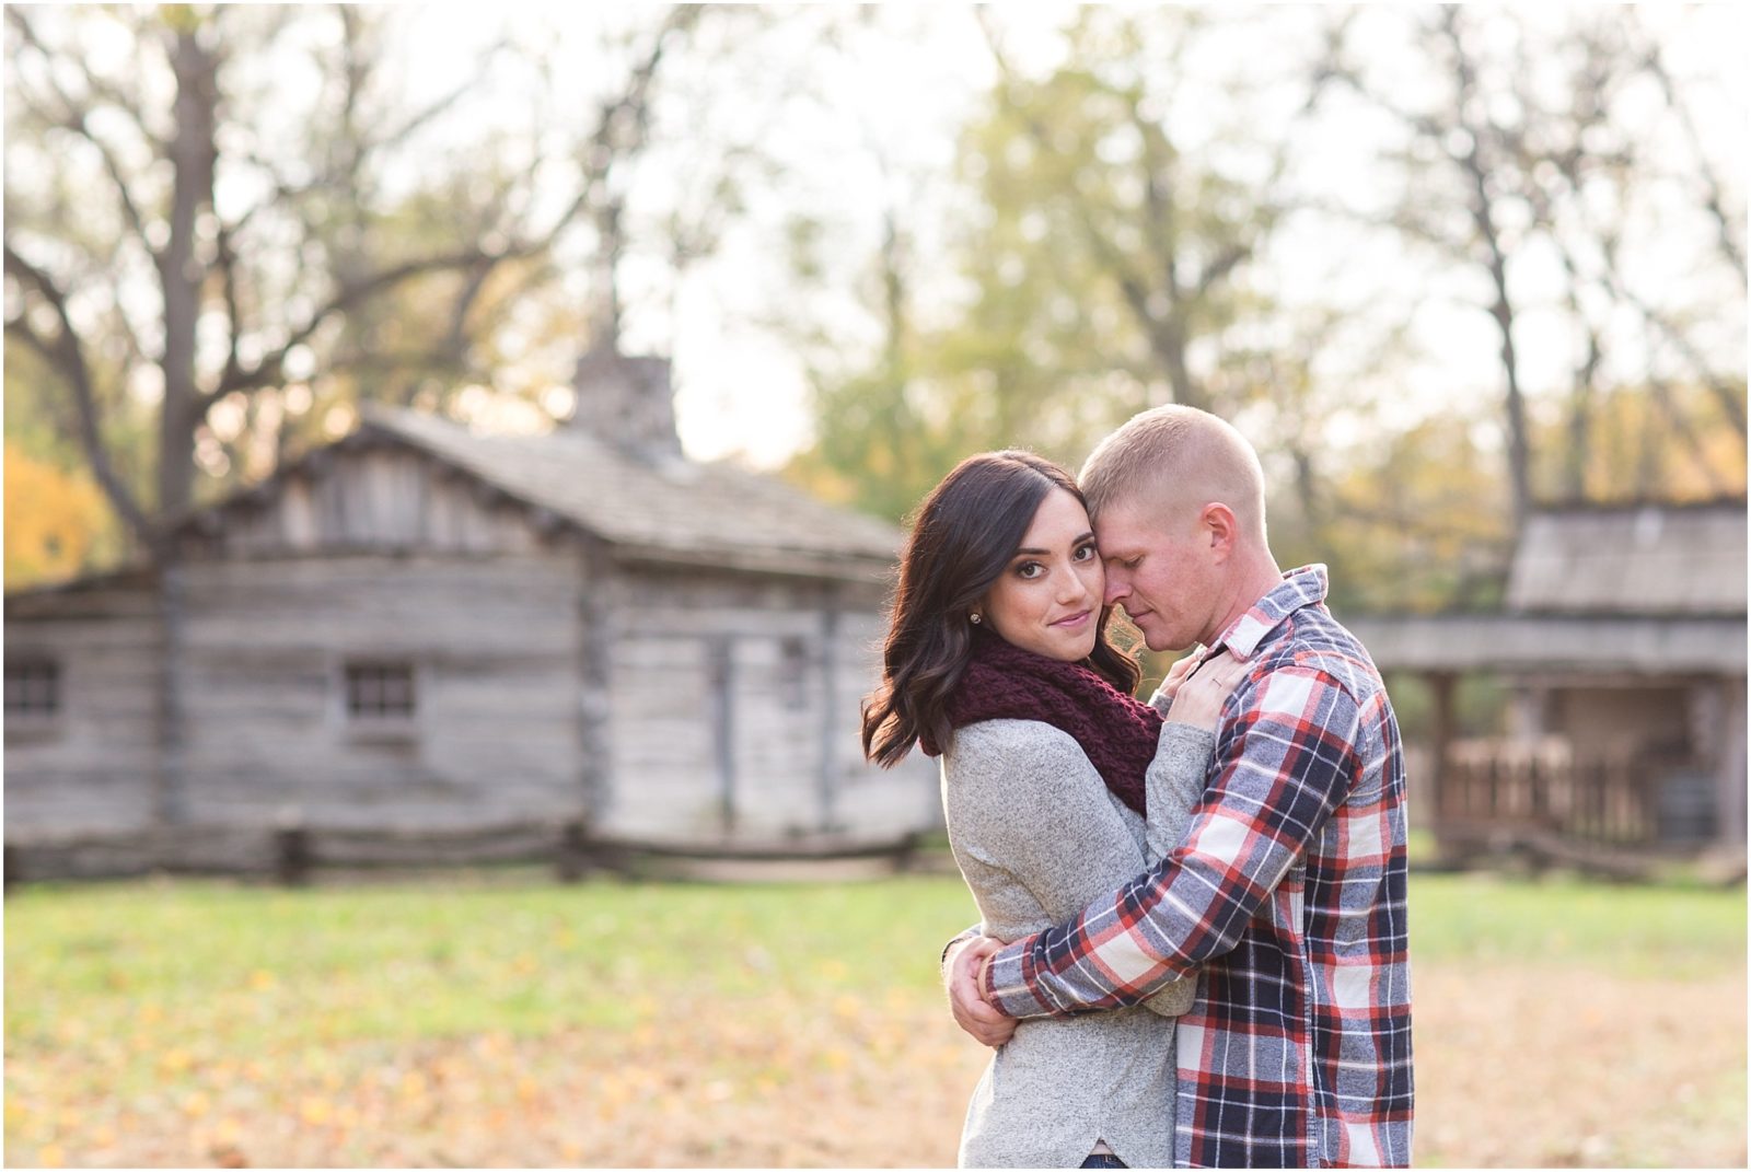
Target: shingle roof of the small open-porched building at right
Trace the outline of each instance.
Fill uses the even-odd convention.
[[[1746,503],[1537,512],[1515,550],[1508,610],[1742,617]]]

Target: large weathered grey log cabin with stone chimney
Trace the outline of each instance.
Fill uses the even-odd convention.
[[[662,359],[578,378],[548,434],[366,408],[165,564],[7,596],[7,841],[159,832],[224,869],[277,825],[779,853],[939,825],[933,762],[858,743],[900,533],[685,459]]]

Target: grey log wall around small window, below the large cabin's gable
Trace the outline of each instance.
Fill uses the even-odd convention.
[[[186,568],[186,808],[452,825],[578,813],[576,561],[312,557]],[[403,732],[345,711],[348,660],[410,662]]]

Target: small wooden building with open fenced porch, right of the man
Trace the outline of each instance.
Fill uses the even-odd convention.
[[[1541,508],[1499,611],[1345,622],[1389,683],[1429,685],[1413,816],[1452,853],[1516,836],[1744,851],[1744,498]],[[1478,674],[1506,725],[1462,741],[1455,687]]]

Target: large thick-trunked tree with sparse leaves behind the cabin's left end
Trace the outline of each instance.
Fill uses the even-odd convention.
[[[531,196],[553,166],[539,151],[501,158],[469,142],[434,158],[447,116],[504,46],[408,109],[380,81],[382,19],[348,5],[7,7],[7,340],[54,371],[68,431],[154,559],[165,520],[194,499],[215,405],[247,405],[313,356],[327,370],[368,361],[369,310],[415,286],[445,307],[425,310],[443,322],[424,335],[427,356],[461,363],[496,275],[550,279],[541,261],[585,212],[613,228],[611,170],[641,149],[658,63],[697,9],[664,11],[601,123],[573,126],[592,149],[576,159],[576,198],[546,212]],[[313,96],[275,84],[298,70],[315,75]],[[438,173],[410,194],[422,166]],[[611,273],[618,237],[601,238]],[[147,485],[112,433],[151,396]]]

